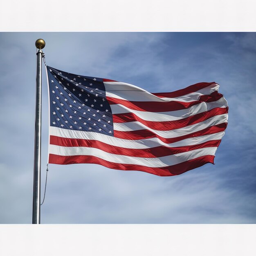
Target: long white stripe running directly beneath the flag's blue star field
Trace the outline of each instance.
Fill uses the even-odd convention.
[[[213,133],[210,135],[203,135],[198,137],[192,137],[188,139],[183,139],[174,143],[164,143],[158,138],[149,138],[149,139],[119,139],[105,134],[100,134],[98,132],[83,132],[78,130],[67,130],[58,127],[50,126],[50,135],[58,136],[62,138],[70,139],[86,139],[86,140],[97,140],[103,143],[109,144],[111,146],[125,147],[125,148],[154,148],[158,146],[166,146],[169,148],[182,147],[182,146],[191,146],[204,143],[209,140],[222,139],[224,132]]]

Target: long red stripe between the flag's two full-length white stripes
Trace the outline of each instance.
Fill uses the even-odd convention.
[[[115,155],[127,155],[130,157],[164,157],[167,155],[173,155],[183,152],[188,152],[190,150],[195,150],[199,148],[208,148],[208,147],[218,147],[221,140],[210,140],[201,144],[191,145],[191,146],[182,146],[169,148],[166,146],[158,146],[154,148],[144,148],[144,149],[135,149],[135,148],[122,148],[117,146],[111,146],[109,144],[103,143],[97,140],[87,140],[87,139],[68,139],[57,136],[50,136],[50,144],[63,146],[63,147],[88,147],[88,148],[99,148],[107,153]]]

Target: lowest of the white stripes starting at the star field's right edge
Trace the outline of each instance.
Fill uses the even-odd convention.
[[[128,132],[128,131],[146,129],[164,138],[174,138],[174,137],[180,137],[180,136],[189,134],[191,132],[197,132],[207,127],[217,125],[217,124],[222,124],[225,122],[227,122],[227,114],[217,115],[207,120],[204,120],[200,123],[193,124],[190,126],[185,126],[183,128],[179,128],[175,130],[167,130],[167,131],[154,130],[154,129],[148,128],[147,126],[145,126],[144,124],[141,124],[138,121],[128,122],[128,123],[114,123],[114,130]]]

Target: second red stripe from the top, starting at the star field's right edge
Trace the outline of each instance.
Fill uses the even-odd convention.
[[[166,111],[174,111],[174,110],[181,110],[184,108],[190,108],[201,102],[218,101],[221,97],[222,97],[222,94],[216,91],[211,93],[210,95],[202,95],[198,101],[191,101],[191,102],[126,101],[124,99],[117,99],[117,98],[112,98],[108,96],[107,96],[107,100],[110,105],[121,104],[132,110],[149,111],[149,112],[166,112]]]

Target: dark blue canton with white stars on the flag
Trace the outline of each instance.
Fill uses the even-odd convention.
[[[47,66],[50,126],[114,136],[113,117],[102,78]]]

